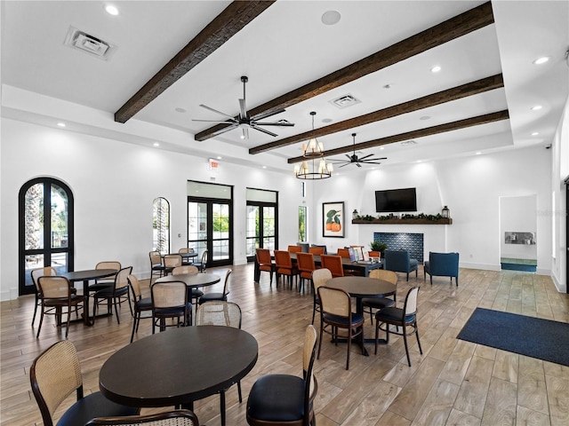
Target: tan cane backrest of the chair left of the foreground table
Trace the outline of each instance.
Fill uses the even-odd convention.
[[[45,426],[52,426],[52,415],[75,390],[83,398],[83,378],[75,345],[68,340],[53,343],[32,363],[29,381]]]

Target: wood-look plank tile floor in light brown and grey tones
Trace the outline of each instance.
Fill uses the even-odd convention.
[[[245,400],[260,375],[301,375],[302,336],[312,316],[311,293],[299,293],[283,284],[271,287],[265,273],[260,283],[254,283],[252,264],[233,270],[228,298],[241,306],[243,328],[256,337],[260,353],[256,366],[242,381],[244,402],[239,404],[236,389],[227,392],[228,426],[246,424]],[[369,357],[353,346],[346,371],[346,345],[335,346],[325,339],[315,364],[319,426],[569,424],[569,367],[456,339],[478,306],[569,322],[569,297],[558,293],[549,277],[461,269],[459,288],[446,278],[435,278],[431,287],[429,280],[423,282],[420,268],[419,279],[412,276],[407,282],[405,275],[399,274],[397,300],[403,301],[407,290],[416,284],[421,286],[423,355],[412,337],[413,367],[408,367],[403,340],[392,335],[389,345],[381,345],[377,355],[373,344],[367,344]],[[143,288],[149,293],[148,281]],[[36,339],[37,319],[36,326],[30,326],[33,296],[2,302],[0,308],[0,422],[43,424],[30,390],[29,367],[39,353],[60,340],[61,331],[49,318]],[[79,323],[69,330],[69,340],[76,344],[81,359],[86,393],[98,390],[101,365],[129,343],[132,318],[125,305],[120,319],[120,325],[108,317],[98,319],[94,327]],[[150,322],[142,320],[135,338],[149,334]],[[369,319],[365,334],[373,336]],[[72,400],[68,398],[55,417],[59,418]],[[195,410],[202,424],[220,424],[218,396],[197,401]],[[152,411],[158,410],[144,409],[143,413]]]

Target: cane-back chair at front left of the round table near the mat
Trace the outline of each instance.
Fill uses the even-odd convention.
[[[352,303],[349,294],[340,288],[326,286],[318,288],[320,298],[320,343],[318,343],[318,359],[324,333],[332,335],[333,341],[338,344],[339,337],[345,337],[348,341],[348,356],[346,369],[349,370],[349,352],[354,337],[359,336],[362,348],[364,348],[364,315],[352,312]],[[345,329],[346,335],[339,335],[339,329]]]

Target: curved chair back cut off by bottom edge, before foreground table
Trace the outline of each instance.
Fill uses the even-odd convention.
[[[124,415],[121,417],[96,417],[85,426],[199,426],[196,414],[189,410],[174,410],[164,413]]]

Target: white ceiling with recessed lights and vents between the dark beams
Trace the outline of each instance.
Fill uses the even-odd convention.
[[[113,3],[119,15],[104,5]],[[278,0],[231,37],[212,55],[164,91],[127,123],[112,121],[120,106],[148,82],[168,60],[192,40],[231,2],[228,1],[3,1],[2,83],[6,117],[55,126],[60,117],[33,111],[16,102],[7,89],[32,91],[99,110],[104,120],[83,118],[68,130],[117,138],[140,145],[224,161],[262,162],[276,170],[292,170],[286,160],[301,154],[301,143],[266,154],[249,148],[311,129],[341,122],[381,108],[502,73],[504,87],[409,114],[343,130],[319,138],[325,149],[384,138],[410,130],[509,110],[509,120],[416,138],[415,145],[395,143],[359,151],[386,156],[382,166],[429,158],[473,155],[536,144],[549,144],[561,116],[569,82],[565,51],[569,48],[569,2],[492,2],[495,23],[420,55],[366,75],[290,106],[266,121],[286,119],[294,127],[275,128],[277,138],[249,130],[231,130],[202,142],[193,135],[211,125],[192,119],[219,120],[200,104],[235,116],[243,97],[241,75],[249,77],[247,107],[252,109],[304,84],[364,59],[424,29],[469,11],[480,1],[286,1]],[[327,26],[326,11],[341,13]],[[64,44],[68,29],[78,28],[116,45],[108,60],[93,58]],[[549,56],[544,65],[533,59]],[[440,65],[442,71],[429,70]],[[390,89],[383,86],[390,84]],[[331,100],[351,94],[361,102],[339,109]],[[540,111],[532,111],[541,105]],[[176,108],[183,108],[180,113]],[[425,119],[429,117],[429,119]],[[326,122],[323,122],[323,121]],[[165,126],[163,138],[140,134],[148,124]],[[164,128],[158,128],[164,129]],[[539,132],[538,136],[531,136]],[[182,134],[183,138],[169,135]],[[334,155],[342,158],[344,155]],[[344,171],[369,170],[372,165]],[[338,169],[336,169],[338,170]]]

